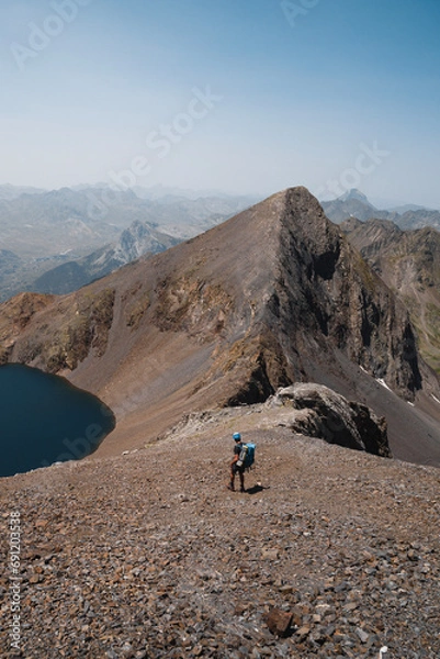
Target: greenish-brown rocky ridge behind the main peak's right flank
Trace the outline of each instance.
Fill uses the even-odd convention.
[[[440,233],[402,231],[381,220],[349,220],[341,230],[373,270],[403,300],[426,361],[440,372]]]

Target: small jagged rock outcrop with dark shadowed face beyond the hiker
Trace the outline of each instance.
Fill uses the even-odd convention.
[[[379,418],[366,405],[349,402],[327,387],[296,383],[279,389],[268,404],[292,407],[295,412],[289,427],[296,433],[391,457],[385,418]]]

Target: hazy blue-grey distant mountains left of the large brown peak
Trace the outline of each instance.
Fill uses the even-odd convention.
[[[25,290],[69,292],[252,203],[225,194],[193,199],[195,192],[178,196],[160,187],[137,192],[143,198],[97,186],[53,191],[0,186],[0,301]]]

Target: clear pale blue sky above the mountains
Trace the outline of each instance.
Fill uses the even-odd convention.
[[[439,0],[2,0],[0,183],[440,209]]]

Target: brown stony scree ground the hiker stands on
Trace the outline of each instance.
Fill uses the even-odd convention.
[[[2,479],[1,656],[438,658],[440,471],[283,425],[205,413],[136,453]],[[257,444],[245,494],[225,487],[237,429]]]

